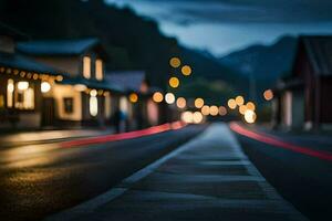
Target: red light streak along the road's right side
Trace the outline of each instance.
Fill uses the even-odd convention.
[[[245,127],[241,127],[239,124],[237,123],[230,123],[229,127],[231,128],[231,130],[236,131],[237,134],[243,135],[246,137],[249,137],[251,139],[261,141],[261,143],[266,143],[268,145],[272,145],[274,147],[281,147],[284,149],[289,149],[291,151],[294,152],[299,152],[302,155],[307,155],[310,157],[315,157],[322,160],[328,160],[328,161],[332,161],[332,154],[326,152],[326,151],[321,151],[321,150],[314,150],[311,149],[309,147],[302,147],[299,145],[294,145],[294,144],[290,144],[283,140],[278,139],[277,137],[263,134],[263,133],[257,133],[257,131],[252,131],[249,130]]]

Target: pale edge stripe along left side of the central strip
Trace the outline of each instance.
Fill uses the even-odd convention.
[[[204,136],[205,131],[194,139],[189,140],[188,143],[184,144],[179,148],[173,150],[172,152],[165,155],[160,159],[152,162],[147,167],[136,171],[132,176],[125,178],[121,181],[120,185],[117,185],[115,188],[112,188],[107,192],[100,194],[89,201],[85,201],[76,207],[73,207],[71,209],[64,210],[62,212],[52,214],[48,218],[45,218],[45,221],[70,221],[70,220],[79,220],[83,215],[89,215],[92,212],[94,212],[97,208],[100,208],[103,204],[106,204],[116,198],[124,194],[126,191],[128,191],[133,183],[137,182],[138,180],[147,177],[152,172],[154,172],[157,168],[159,168],[165,161],[168,159],[179,155],[183,151],[186,151],[187,149],[191,148],[193,144],[200,137]]]

